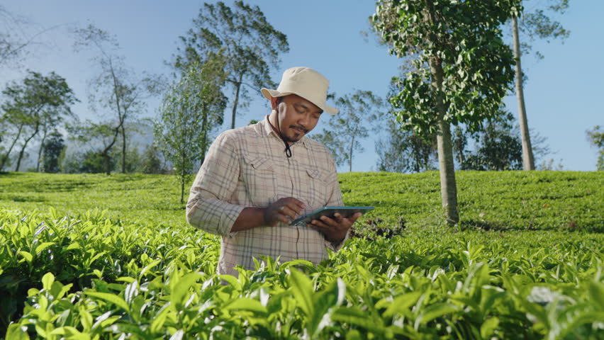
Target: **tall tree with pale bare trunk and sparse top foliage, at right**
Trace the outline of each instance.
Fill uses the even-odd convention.
[[[554,4],[549,6],[549,11],[564,13],[569,8],[569,0],[550,0],[549,2]],[[528,0],[522,2],[529,2]],[[525,107],[525,94],[524,84],[522,81],[522,65],[520,59],[522,57],[522,51],[520,49],[520,38],[519,30],[527,33],[530,40],[535,37],[538,38],[568,38],[570,32],[565,30],[561,24],[557,21],[552,21],[548,16],[545,15],[542,9],[537,9],[534,12],[524,13],[521,17],[522,22],[520,23],[520,29],[518,26],[518,15],[514,15],[511,18],[512,21],[512,35],[514,45],[514,58],[516,60],[515,65],[515,82],[516,82],[516,98],[518,99],[518,120],[520,121],[520,133],[522,135],[522,164],[525,170],[535,170],[535,159],[532,153],[532,145],[530,142],[530,131],[527,122],[527,113]],[[525,44],[525,47],[528,45]],[[538,57],[542,57],[537,52]]]

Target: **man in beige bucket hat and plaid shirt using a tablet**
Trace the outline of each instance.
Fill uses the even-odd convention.
[[[318,263],[337,251],[360,212],[322,217],[305,226],[291,220],[326,205],[340,206],[342,193],[328,149],[306,137],[323,112],[329,81],[308,67],[287,69],[276,90],[262,89],[272,112],[255,125],[228,130],[213,142],[191,186],[186,219],[221,236],[219,274],[237,276],[254,257]]]

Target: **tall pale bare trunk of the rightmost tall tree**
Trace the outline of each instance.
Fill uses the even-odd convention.
[[[527,122],[525,107],[525,93],[522,85],[522,67],[520,66],[520,41],[518,40],[518,18],[512,17],[512,31],[514,35],[514,57],[516,60],[516,98],[518,98],[518,120],[520,121],[520,134],[522,135],[522,167],[525,170],[535,170],[535,159],[532,156],[532,146]]]

